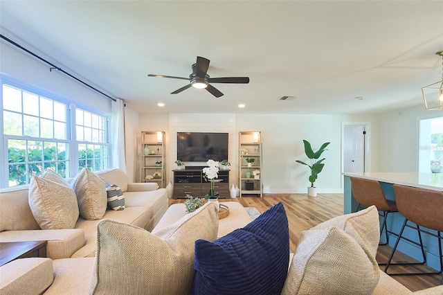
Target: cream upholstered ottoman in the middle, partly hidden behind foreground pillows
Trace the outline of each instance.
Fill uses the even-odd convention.
[[[219,220],[219,232],[217,238],[221,238],[231,231],[240,229],[251,222],[251,216],[249,216],[246,210],[244,210],[242,204],[238,202],[221,202],[221,204],[229,207],[229,215]],[[165,226],[173,224],[186,214],[185,204],[172,204],[152,231],[157,231]]]

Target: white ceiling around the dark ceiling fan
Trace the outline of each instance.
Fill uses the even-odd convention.
[[[0,12],[3,35],[139,112],[378,113],[423,105],[442,77],[443,1],[1,0]],[[197,55],[211,77],[251,82],[213,84],[215,98],[147,77],[188,77]]]

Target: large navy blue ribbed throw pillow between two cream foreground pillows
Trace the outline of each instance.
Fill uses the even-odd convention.
[[[282,203],[214,242],[195,241],[192,294],[280,294],[289,265]]]

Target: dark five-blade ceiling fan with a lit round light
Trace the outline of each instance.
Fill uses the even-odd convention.
[[[192,64],[192,74],[189,75],[189,78],[174,77],[170,75],[152,75],[152,74],[149,74],[148,77],[189,80],[190,84],[186,85],[185,87],[181,87],[180,89],[177,89],[171,94],[180,93],[181,91],[186,90],[192,86],[197,89],[206,88],[206,90],[208,90],[216,98],[223,96],[223,93],[221,93],[217,88],[213,87],[213,85],[209,83],[235,83],[235,84],[249,83],[248,77],[210,78],[209,75],[206,73],[209,68],[209,62],[210,60],[201,56],[197,56],[197,62],[195,64]]]

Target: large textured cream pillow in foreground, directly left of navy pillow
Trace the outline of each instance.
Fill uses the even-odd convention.
[[[103,220],[97,227],[91,293],[190,294],[195,241],[212,242],[218,226],[217,208],[212,203],[154,233]]]

